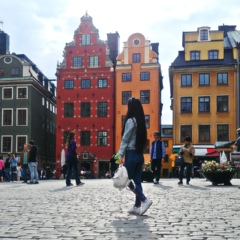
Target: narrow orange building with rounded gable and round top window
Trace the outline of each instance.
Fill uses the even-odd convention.
[[[150,43],[141,33],[132,34],[124,42],[116,64],[116,152],[121,143],[121,131],[130,97],[140,99],[146,120],[148,144],[145,162],[149,162],[153,132],[161,126],[162,75],[158,62],[158,43]]]

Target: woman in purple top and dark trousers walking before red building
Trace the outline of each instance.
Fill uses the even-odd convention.
[[[67,147],[66,163],[68,167],[66,185],[67,187],[73,186],[73,184],[71,183],[71,175],[72,175],[72,169],[73,169],[75,173],[76,185],[80,186],[84,183],[82,183],[79,178],[78,160],[77,160],[77,152],[76,152],[77,143],[75,140],[75,132],[70,132],[68,134],[65,146]]]

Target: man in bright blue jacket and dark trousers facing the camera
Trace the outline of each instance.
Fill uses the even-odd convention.
[[[159,184],[162,164],[166,154],[166,148],[164,142],[160,140],[160,132],[154,132],[154,141],[151,145],[150,158],[151,158],[151,170],[153,172],[154,184]]]

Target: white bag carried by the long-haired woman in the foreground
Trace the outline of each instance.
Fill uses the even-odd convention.
[[[125,166],[123,164],[120,164],[118,169],[115,171],[113,176],[113,186],[115,188],[118,188],[119,191],[123,190],[127,187],[127,184],[129,182],[128,179],[128,172]]]

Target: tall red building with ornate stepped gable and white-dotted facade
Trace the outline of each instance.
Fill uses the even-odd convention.
[[[75,131],[79,168],[95,177],[105,176],[108,170],[115,147],[112,59],[116,59],[119,36],[107,37],[110,45],[99,39],[98,29],[86,13],[74,40],[65,46],[64,59],[57,67],[56,168],[61,167],[67,134]]]

